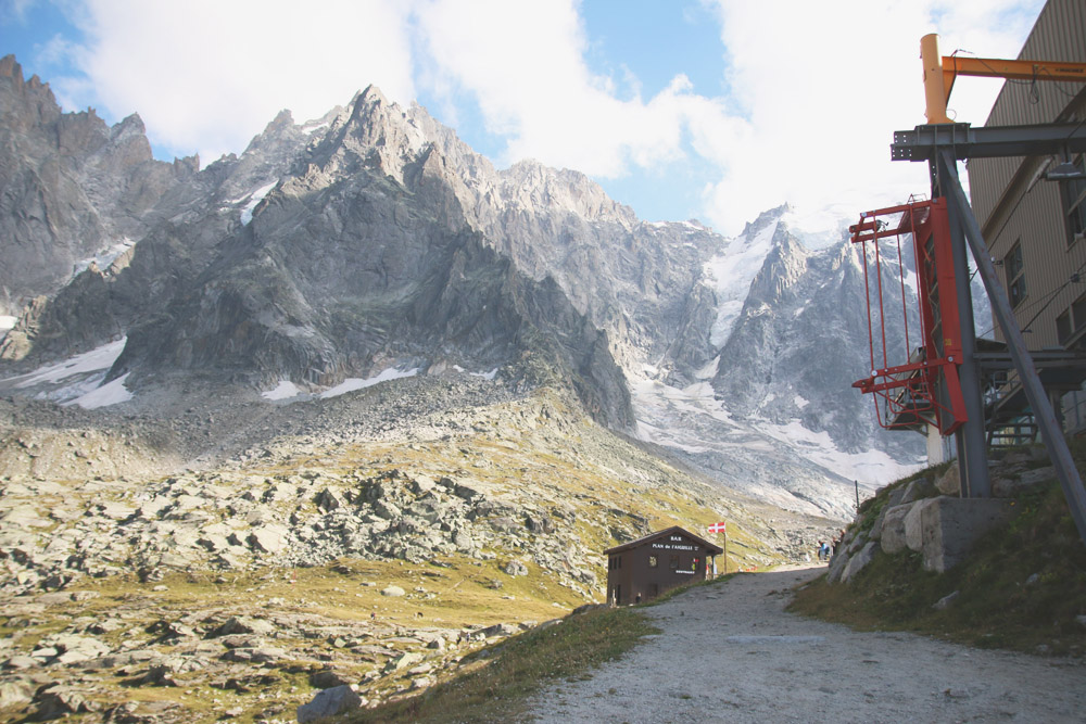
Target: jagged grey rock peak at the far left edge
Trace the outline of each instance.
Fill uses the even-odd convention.
[[[61,113],[36,77],[0,60],[0,314],[53,295],[93,258],[147,233],[147,215],[186,166],[154,161],[143,122],[109,127],[93,109]]]

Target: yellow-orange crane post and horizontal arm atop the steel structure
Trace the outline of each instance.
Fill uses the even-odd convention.
[[[927,123],[954,123],[947,117],[947,101],[955,78],[960,75],[1009,78],[1013,80],[1071,80],[1086,82],[1086,63],[1053,63],[1048,61],[1005,61],[992,58],[940,55],[939,36],[920,39],[920,58],[924,63],[924,97],[927,101]]]

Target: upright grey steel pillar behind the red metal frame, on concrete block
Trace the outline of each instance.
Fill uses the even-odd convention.
[[[935,178],[932,196],[948,196],[942,187],[958,183],[957,169],[954,176],[946,168],[947,161],[940,155],[934,160]],[[956,164],[954,158],[949,163]],[[967,209],[968,211],[968,209]],[[962,399],[968,419],[959,429],[958,471],[961,473],[962,497],[989,498],[992,483],[988,479],[988,444],[984,430],[984,395],[981,390],[981,366],[976,359],[976,326],[973,320],[973,295],[970,292],[969,253],[962,234],[964,212],[952,202],[947,203],[950,221],[950,245],[954,250],[954,278],[958,294],[958,322],[961,328],[961,365],[958,379],[961,382]]]

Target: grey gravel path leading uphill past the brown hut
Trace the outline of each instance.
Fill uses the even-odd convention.
[[[1086,665],[784,611],[823,567],[746,573],[646,609],[662,633],[532,702],[540,722],[1082,722]]]

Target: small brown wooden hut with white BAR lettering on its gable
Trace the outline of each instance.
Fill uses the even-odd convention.
[[[669,588],[705,581],[716,568],[720,546],[678,525],[604,551],[607,556],[607,602],[627,606],[648,601]]]

